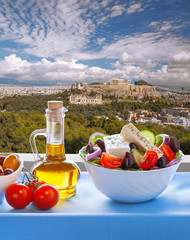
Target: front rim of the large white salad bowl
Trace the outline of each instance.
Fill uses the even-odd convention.
[[[174,165],[172,165],[172,166],[170,166],[170,167],[165,167],[165,168],[156,168],[156,169],[152,169],[152,170],[142,170],[142,171],[140,171],[140,170],[121,170],[121,169],[114,169],[114,168],[106,168],[106,167],[103,167],[103,166],[100,166],[100,165],[98,165],[98,164],[95,164],[95,163],[92,163],[92,162],[90,162],[90,161],[87,161],[86,159],[84,159],[83,157],[82,157],[82,154],[81,154],[81,151],[85,148],[86,146],[83,146],[80,150],[79,150],[79,156],[82,158],[82,160],[85,162],[85,163],[87,163],[87,164],[90,164],[90,165],[93,165],[93,166],[95,166],[95,167],[98,167],[98,168],[102,168],[102,169],[107,169],[106,171],[119,171],[119,172],[123,172],[123,173],[131,173],[131,174],[134,174],[134,173],[149,173],[150,171],[151,172],[160,172],[160,171],[167,171],[168,169],[172,169],[173,167],[176,167],[176,166],[179,166],[179,164],[184,160],[184,154],[183,154],[183,152],[181,151],[181,150],[179,150],[179,152],[180,152],[180,158],[178,157],[177,158],[177,160],[178,160],[178,163],[176,163],[176,164],[174,164]]]

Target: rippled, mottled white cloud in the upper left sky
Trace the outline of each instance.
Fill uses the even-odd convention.
[[[83,49],[88,37],[95,31],[95,24],[83,15],[87,13],[84,2],[70,1],[25,1],[15,2],[18,14],[14,13],[9,0],[2,0],[0,15],[4,40],[12,39],[29,45],[25,52],[39,57],[56,57]],[[89,4],[86,2],[86,4]],[[22,7],[21,7],[22,6]],[[43,14],[39,14],[43,13]],[[29,19],[28,19],[29,18]]]

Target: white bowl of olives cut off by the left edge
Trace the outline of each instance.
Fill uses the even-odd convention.
[[[10,154],[12,154],[12,153],[0,153],[0,156],[8,156]],[[14,155],[16,155],[16,154],[14,154]],[[18,169],[9,175],[0,176],[0,203],[4,199],[4,193],[5,193],[5,190],[7,189],[7,187],[10,184],[14,183],[18,179],[19,175],[22,172],[23,162],[20,160],[18,155],[16,155],[16,156],[20,162],[20,166],[18,167]]]

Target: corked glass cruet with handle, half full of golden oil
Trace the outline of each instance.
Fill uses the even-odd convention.
[[[49,101],[46,109],[46,129],[35,130],[30,135],[30,145],[36,163],[31,171],[41,181],[52,184],[59,190],[60,198],[68,198],[75,194],[80,170],[67,159],[64,146],[64,118],[67,109],[62,101]],[[46,137],[46,155],[41,157],[35,138]]]

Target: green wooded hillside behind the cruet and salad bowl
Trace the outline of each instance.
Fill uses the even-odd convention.
[[[45,109],[47,101],[62,100],[68,108],[65,117],[65,148],[66,153],[78,153],[78,150],[88,143],[89,136],[94,132],[116,134],[127,123],[129,110],[151,109],[160,112],[163,107],[173,106],[165,101],[146,99],[146,103],[134,101],[118,102],[98,106],[69,105],[69,92],[49,96],[14,96],[0,102],[0,151],[1,152],[31,152],[29,136],[32,131],[46,127]],[[97,117],[98,116],[98,117]],[[124,119],[118,120],[116,116]],[[181,143],[185,154],[190,154],[190,130],[179,126],[160,126],[147,123],[135,124],[139,130],[150,129],[155,134],[166,133],[175,136]],[[45,139],[37,138],[39,152],[45,152]]]

